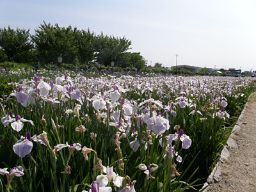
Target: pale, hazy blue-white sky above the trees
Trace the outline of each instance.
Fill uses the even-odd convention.
[[[0,28],[44,21],[131,40],[147,65],[256,70],[255,0],[0,0]],[[178,54],[176,57],[175,55]]]

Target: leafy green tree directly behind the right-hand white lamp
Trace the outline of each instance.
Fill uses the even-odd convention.
[[[116,67],[121,67],[123,54],[131,49],[129,48],[131,41],[123,38],[115,38],[114,36],[104,36],[103,33],[95,39],[95,51],[97,63],[105,66],[110,65],[111,61],[115,62]]]

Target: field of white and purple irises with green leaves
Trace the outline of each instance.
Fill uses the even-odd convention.
[[[2,74],[0,191],[198,190],[255,91],[253,80]]]

